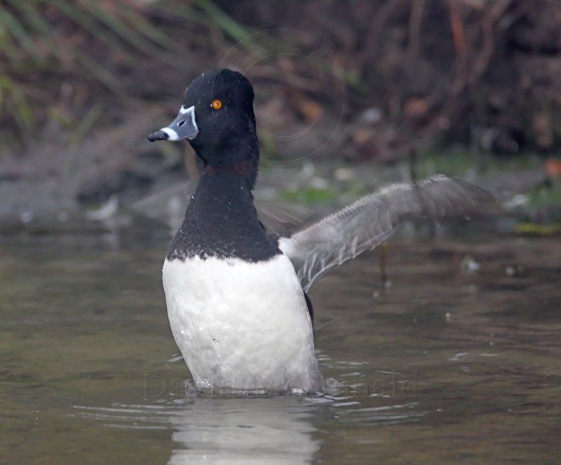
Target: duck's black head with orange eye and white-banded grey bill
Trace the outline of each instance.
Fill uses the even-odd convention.
[[[230,69],[217,69],[194,79],[185,92],[177,118],[148,140],[187,139],[206,165],[215,168],[257,166],[259,149],[253,113],[253,87]]]

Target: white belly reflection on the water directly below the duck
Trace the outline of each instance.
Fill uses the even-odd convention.
[[[319,442],[306,410],[289,398],[196,400],[171,419],[169,463],[311,463]]]

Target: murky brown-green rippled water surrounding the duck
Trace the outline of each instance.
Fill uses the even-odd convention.
[[[561,244],[393,239],[311,291],[320,398],[188,396],[166,231],[4,236],[1,463],[553,463]]]

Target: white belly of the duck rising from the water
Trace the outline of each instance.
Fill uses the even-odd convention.
[[[310,317],[285,255],[165,260],[175,342],[198,388],[320,391]]]

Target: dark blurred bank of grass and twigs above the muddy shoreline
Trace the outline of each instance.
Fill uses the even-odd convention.
[[[339,118],[339,161],[559,151],[558,0],[1,0],[0,43],[0,177],[58,198],[138,172],[139,154],[177,159],[144,135],[218,66],[257,84],[276,161],[322,146]]]

